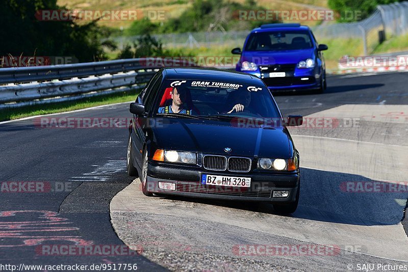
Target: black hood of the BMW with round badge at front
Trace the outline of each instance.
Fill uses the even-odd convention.
[[[280,126],[242,128],[232,122],[158,118],[155,139],[166,150],[232,156],[290,158],[293,154],[287,130]],[[224,148],[232,149],[226,153]]]

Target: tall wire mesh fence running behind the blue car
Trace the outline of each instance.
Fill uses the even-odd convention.
[[[333,38],[360,39],[364,46],[364,55],[368,55],[385,39],[408,32],[408,1],[390,5],[379,5],[370,17],[359,22],[323,23],[312,27],[318,40]],[[197,32],[152,35],[163,43],[164,47],[213,47],[237,46],[244,43],[248,31]],[[139,36],[116,39],[119,48],[133,43]]]

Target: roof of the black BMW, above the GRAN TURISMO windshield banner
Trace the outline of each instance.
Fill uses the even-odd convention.
[[[240,84],[260,84],[263,81],[247,73],[235,71],[223,71],[212,68],[163,68],[166,72],[165,79],[194,79],[194,80],[218,80]]]

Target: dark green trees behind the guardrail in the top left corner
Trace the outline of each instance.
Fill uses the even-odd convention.
[[[73,56],[80,62],[105,60],[104,47],[114,48],[111,41],[101,42],[109,31],[96,21],[41,21],[38,10],[61,10],[57,0],[0,0],[0,55]]]

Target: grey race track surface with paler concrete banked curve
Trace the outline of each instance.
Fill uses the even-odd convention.
[[[139,179],[125,173],[126,127],[44,128],[39,118],[0,123],[0,263],[126,263],[142,271],[408,265],[407,79],[403,72],[329,76],[324,94],[275,96],[284,116],[310,122],[290,129],[302,168],[299,207],[291,216],[268,204],[145,197]],[[128,108],[46,118],[129,118]],[[316,127],[319,118],[334,123]],[[397,189],[355,191],[376,182]],[[30,184],[45,189],[25,192]],[[136,251],[44,250],[69,244]],[[268,255],[260,245],[323,250]]]

